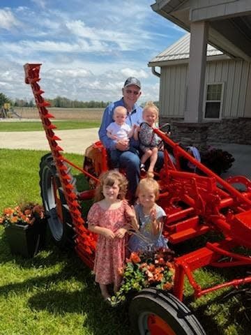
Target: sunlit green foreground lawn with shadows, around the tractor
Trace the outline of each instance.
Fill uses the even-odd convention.
[[[45,151],[0,149],[0,212],[19,202],[40,202],[38,169]],[[82,156],[66,154],[77,165]],[[77,172],[73,171],[73,174]],[[197,247],[204,239],[193,241]],[[190,248],[190,243],[179,247]],[[127,306],[109,308],[93,283],[91,271],[73,251],[62,251],[49,242],[32,259],[11,255],[0,227],[0,335],[130,335]],[[242,276],[245,269],[236,269]],[[222,283],[229,271],[213,268],[195,271],[202,287]],[[185,303],[204,326],[207,335],[250,334],[241,295],[222,299],[225,291],[195,301],[185,285]],[[250,306],[251,308],[251,306]],[[178,334],[177,334],[178,335]]]

